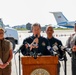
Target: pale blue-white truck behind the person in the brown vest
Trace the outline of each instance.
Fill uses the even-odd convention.
[[[13,50],[18,45],[18,32],[12,27],[6,27],[0,18],[0,27],[4,29],[4,38],[12,43]]]

